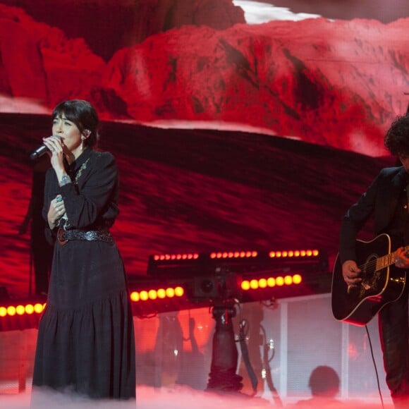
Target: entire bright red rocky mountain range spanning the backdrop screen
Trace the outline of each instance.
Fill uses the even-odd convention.
[[[82,97],[104,118],[250,126],[377,156],[408,102],[409,19],[184,25],[120,49],[106,64],[84,39],[22,9],[0,5],[0,18],[0,91],[49,108]]]

